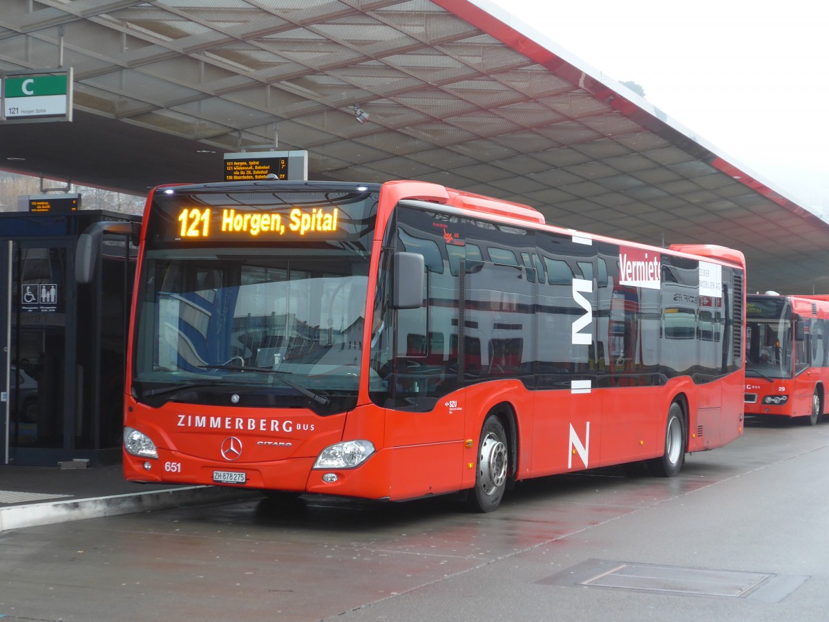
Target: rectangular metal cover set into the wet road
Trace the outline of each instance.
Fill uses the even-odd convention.
[[[797,590],[808,578],[767,572],[588,560],[536,583],[550,586],[602,587],[655,594],[744,598],[776,603]]]

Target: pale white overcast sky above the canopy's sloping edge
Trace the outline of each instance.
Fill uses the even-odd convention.
[[[787,196],[829,208],[829,2],[492,2],[613,80],[637,82]]]

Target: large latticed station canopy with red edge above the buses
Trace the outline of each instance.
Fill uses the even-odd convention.
[[[728,245],[749,291],[829,293],[822,210],[487,0],[3,0],[0,72],[55,67],[74,120],[0,123],[0,168],[143,194],[221,181],[224,153],[307,150],[311,179]]]

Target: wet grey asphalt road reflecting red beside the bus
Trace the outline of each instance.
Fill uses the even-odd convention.
[[[675,479],[303,498],[0,533],[7,620],[827,620],[829,423],[749,423]]]

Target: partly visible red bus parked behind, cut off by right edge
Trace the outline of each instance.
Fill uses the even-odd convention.
[[[829,386],[829,296],[746,299],[745,414],[816,425]]]

